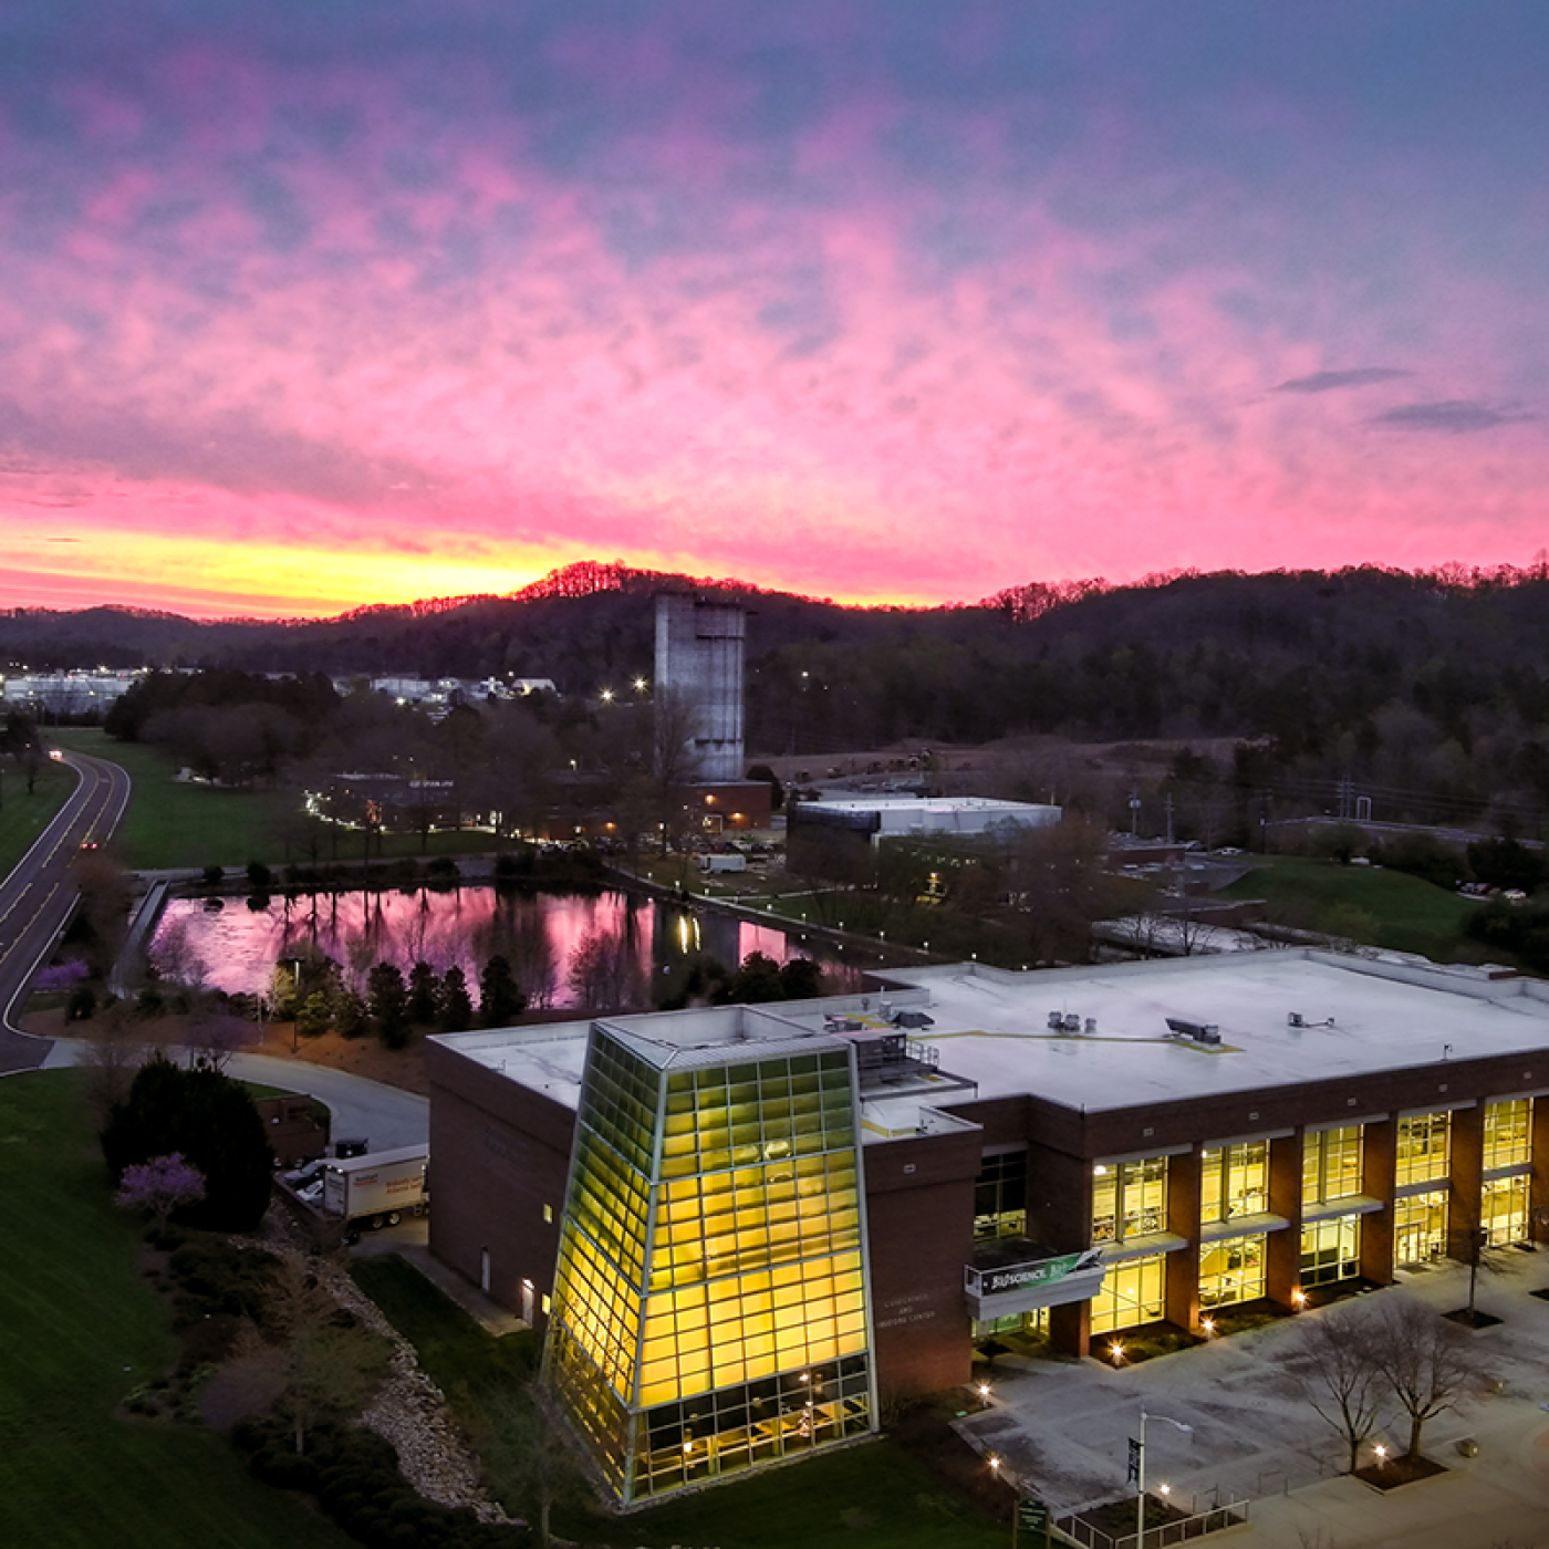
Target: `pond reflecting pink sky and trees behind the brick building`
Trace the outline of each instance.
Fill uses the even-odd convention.
[[[266,994],[277,962],[313,950],[339,963],[344,982],[361,991],[381,962],[395,963],[404,977],[421,960],[437,974],[455,963],[476,999],[483,965],[500,953],[533,1007],[586,1004],[570,984],[582,951],[607,965],[603,971],[620,990],[629,988],[613,1004],[637,1004],[637,998],[641,1005],[655,1004],[682,987],[694,960],[714,957],[730,970],[750,953],[776,962],[812,957],[835,990],[860,984],[858,967],[779,926],[623,892],[489,886],[175,898],[156,925],[150,960],[170,981]]]

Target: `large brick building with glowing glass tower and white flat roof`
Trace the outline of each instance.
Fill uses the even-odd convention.
[[[889,970],[429,1075],[432,1250],[548,1326],[624,1503],[864,1433],[991,1335],[1103,1354],[1549,1224],[1549,987],[1499,970]]]

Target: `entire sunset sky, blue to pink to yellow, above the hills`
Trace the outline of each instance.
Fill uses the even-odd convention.
[[[6,0],[0,606],[1549,544],[1544,0]]]

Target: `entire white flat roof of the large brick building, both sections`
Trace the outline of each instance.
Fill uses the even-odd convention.
[[[1524,1056],[1512,1090],[1549,1087],[1549,984],[1538,979],[1301,948],[1029,973],[956,963],[886,976],[897,990],[643,1013],[607,1025],[665,1050],[756,1055],[759,1044],[807,1036],[821,1047],[835,1015],[861,1022],[864,1033],[891,1030],[886,1019],[898,1010],[926,1008],[934,1025],[909,1030],[909,1042],[934,1046],[942,1077],[970,1081],[976,1092],[923,1078],[895,1094],[914,1104],[1033,1094],[1104,1112],[1512,1053]],[[1078,1018],[1083,1030],[1052,1032],[1052,1011]],[[1306,1025],[1287,1025],[1293,1011]],[[1219,1046],[1179,1038],[1168,1018],[1219,1029]],[[558,1022],[440,1041],[573,1109],[590,1027]],[[942,1090],[929,1090],[937,1081]],[[877,1094],[883,1100],[892,1097]]]

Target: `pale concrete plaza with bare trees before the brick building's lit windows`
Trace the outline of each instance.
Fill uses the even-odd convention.
[[[1501,1393],[1482,1386],[1430,1420],[1424,1451],[1445,1465],[1433,1479],[1380,1492],[1341,1475],[1345,1448],[1312,1410],[1300,1326],[1326,1312],[1112,1369],[1097,1360],[1001,1357],[991,1406],[957,1422],[1002,1470],[1056,1516],[1125,1495],[1128,1442],[1146,1427],[1146,1479],[1174,1504],[1248,1501],[1247,1526],[1227,1535],[1273,1549],[1549,1549],[1549,1252],[1498,1255],[1478,1304],[1503,1318],[1472,1335]],[[1377,1297],[1413,1297],[1437,1312],[1467,1303],[1467,1270],[1444,1266]],[[1335,1315],[1340,1307],[1332,1309]],[[1352,1310],[1352,1309],[1351,1309]],[[1188,1434],[1160,1417],[1191,1427]],[[1405,1445],[1396,1413],[1389,1450]],[[1464,1458],[1458,1444],[1478,1442]],[[1371,1455],[1371,1448],[1366,1448]]]

